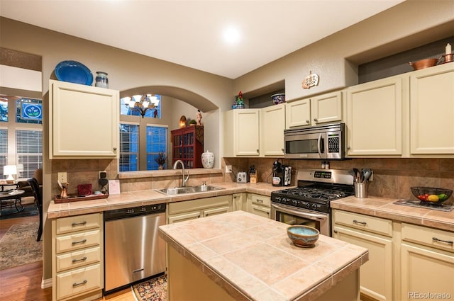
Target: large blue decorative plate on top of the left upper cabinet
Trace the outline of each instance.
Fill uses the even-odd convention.
[[[55,67],[55,76],[59,81],[68,81],[74,84],[92,86],[93,74],[82,63],[76,61],[63,61]]]

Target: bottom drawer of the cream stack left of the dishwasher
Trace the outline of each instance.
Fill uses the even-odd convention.
[[[57,274],[57,300],[99,288],[102,288],[100,264]]]

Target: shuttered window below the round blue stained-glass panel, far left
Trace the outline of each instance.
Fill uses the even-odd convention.
[[[43,132],[16,130],[17,178],[33,178],[36,169],[43,168]]]

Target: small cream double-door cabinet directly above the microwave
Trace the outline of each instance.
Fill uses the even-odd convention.
[[[285,104],[285,128],[343,120],[343,92],[336,91]]]

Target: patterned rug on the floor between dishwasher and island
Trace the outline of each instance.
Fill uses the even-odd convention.
[[[133,285],[138,301],[167,301],[167,275]]]

